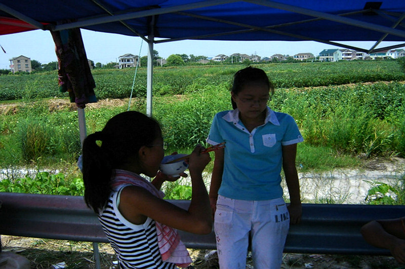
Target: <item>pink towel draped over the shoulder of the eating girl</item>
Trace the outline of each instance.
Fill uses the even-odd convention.
[[[126,170],[116,169],[112,178],[111,186],[113,190],[117,190],[121,185],[135,185],[143,187],[156,197],[165,197],[163,191],[156,189],[152,183],[140,175]],[[183,242],[181,242],[180,235],[177,233],[177,230],[157,221],[155,221],[155,224],[157,244],[159,246],[161,259],[166,262],[175,263],[179,267],[187,267],[190,265],[190,254],[188,253]]]

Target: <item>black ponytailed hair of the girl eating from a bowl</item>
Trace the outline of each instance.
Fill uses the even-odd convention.
[[[138,157],[139,148],[160,135],[159,124],[137,111],[112,117],[101,132],[83,142],[83,180],[86,204],[98,213],[110,192],[112,169]],[[101,146],[99,146],[101,141]]]

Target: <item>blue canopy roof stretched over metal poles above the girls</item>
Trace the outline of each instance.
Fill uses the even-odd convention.
[[[163,39],[154,43],[309,40],[370,52],[332,41],[405,42],[403,0],[0,0],[0,17],[40,29],[80,27]]]

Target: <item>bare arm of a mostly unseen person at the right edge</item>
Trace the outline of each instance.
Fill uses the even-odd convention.
[[[396,261],[405,263],[405,225],[403,218],[373,220],[360,229],[363,238],[375,247],[389,249]]]

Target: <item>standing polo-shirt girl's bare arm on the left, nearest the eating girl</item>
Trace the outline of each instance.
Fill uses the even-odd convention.
[[[210,185],[210,203],[213,214],[217,210],[218,190],[222,182],[222,174],[224,172],[224,152],[225,150],[217,149],[215,151],[214,168],[211,175]]]

